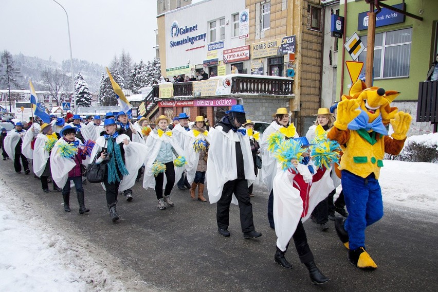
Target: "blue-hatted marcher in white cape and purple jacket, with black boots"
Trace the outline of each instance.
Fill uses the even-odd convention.
[[[54,145],[50,154],[50,167],[53,181],[63,186],[64,211],[70,212],[70,182],[73,181],[78,197],[79,213],[84,214],[89,212],[89,209],[85,207],[85,192],[82,187],[81,164],[85,159],[85,153],[84,146],[76,138],[76,131],[77,129],[70,125],[66,125],[60,131],[61,138]],[[70,147],[76,148],[77,152],[69,157],[62,155],[62,149]]]

